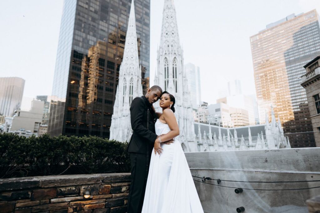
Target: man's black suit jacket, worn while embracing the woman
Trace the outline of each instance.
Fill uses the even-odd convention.
[[[155,130],[157,116],[151,107],[152,104],[145,96],[136,97],[132,100],[130,116],[133,134],[129,142],[128,152],[151,153],[157,138]],[[149,129],[147,129],[147,116],[149,116]]]

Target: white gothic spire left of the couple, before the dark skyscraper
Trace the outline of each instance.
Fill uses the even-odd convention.
[[[133,98],[141,95],[141,67],[139,66],[136,20],[132,0],[124,55],[119,71],[119,84],[111,118],[111,140],[129,141],[132,134],[130,104]]]

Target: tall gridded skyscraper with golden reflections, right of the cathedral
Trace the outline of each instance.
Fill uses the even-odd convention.
[[[250,37],[257,101],[274,107],[291,147],[313,147],[306,91],[300,77],[304,65],[320,54],[319,16],[316,10],[290,15]]]

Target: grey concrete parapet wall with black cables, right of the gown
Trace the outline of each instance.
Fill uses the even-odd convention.
[[[320,195],[320,148],[185,155],[193,176],[215,179],[194,177],[205,212],[233,213],[244,207],[250,213],[308,213],[306,201]],[[236,194],[236,188],[243,192]]]

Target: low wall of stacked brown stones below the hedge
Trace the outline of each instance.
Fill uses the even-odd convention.
[[[130,180],[130,173],[0,179],[0,212],[122,213]]]

